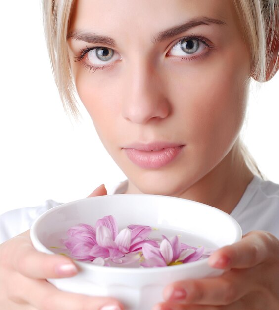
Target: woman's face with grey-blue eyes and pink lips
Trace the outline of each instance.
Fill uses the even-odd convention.
[[[232,2],[76,1],[77,91],[128,191],[183,196],[231,165],[250,74]]]

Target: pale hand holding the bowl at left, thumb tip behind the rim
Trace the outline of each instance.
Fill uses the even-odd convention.
[[[105,195],[104,186],[90,196]],[[47,278],[71,277],[74,262],[62,255],[36,251],[29,231],[0,245],[0,309],[2,310],[122,310],[113,298],[62,292]]]

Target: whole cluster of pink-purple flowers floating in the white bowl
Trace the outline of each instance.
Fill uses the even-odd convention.
[[[196,261],[212,252],[180,243],[177,236],[162,236],[162,241],[148,239],[151,231],[151,227],[141,225],[119,231],[115,218],[109,215],[99,219],[95,227],[80,224],[70,228],[63,243],[73,258],[100,266],[136,263],[164,267]]]

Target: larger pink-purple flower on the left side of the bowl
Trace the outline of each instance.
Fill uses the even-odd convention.
[[[139,260],[138,252],[144,243],[157,246],[152,240],[146,240],[152,228],[130,225],[118,232],[113,216],[105,216],[96,222],[95,228],[81,224],[68,230],[68,239],[64,245],[71,256],[78,260],[95,261],[98,265],[107,265],[109,259],[114,263],[129,264]]]

